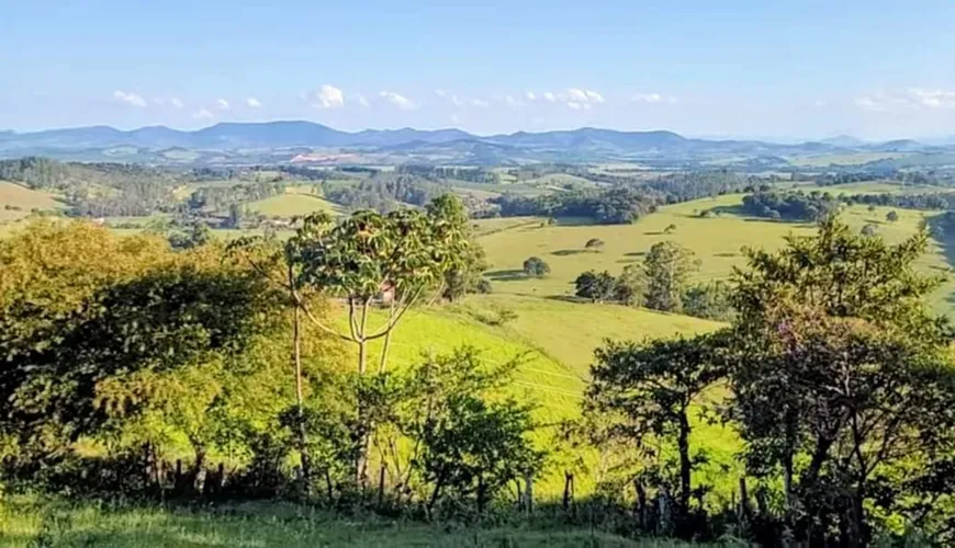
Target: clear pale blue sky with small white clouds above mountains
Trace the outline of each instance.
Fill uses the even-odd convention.
[[[952,0],[0,0],[0,129],[955,136]]]

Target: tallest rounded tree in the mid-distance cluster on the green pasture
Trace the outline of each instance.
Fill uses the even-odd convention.
[[[666,312],[682,310],[684,287],[697,267],[693,252],[681,244],[672,241],[653,244],[644,260],[647,307]]]

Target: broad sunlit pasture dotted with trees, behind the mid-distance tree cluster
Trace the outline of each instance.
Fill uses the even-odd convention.
[[[573,281],[587,270],[607,270],[619,273],[623,266],[642,261],[650,247],[663,240],[675,241],[696,254],[700,269],[694,275],[697,281],[720,279],[730,275],[733,266],[743,264],[743,248],[776,249],[787,235],[809,236],[811,224],[772,221],[748,218],[737,213],[742,195],[726,195],[705,198],[661,208],[633,225],[582,225],[562,219],[554,226],[530,224],[499,230],[481,237],[481,244],[491,263],[488,277],[497,293],[535,297],[561,297],[573,295]],[[719,213],[703,218],[699,213],[715,208]],[[868,222],[878,226],[878,232],[888,241],[899,241],[913,233],[919,222],[934,214],[910,209],[897,209],[899,220],[885,220],[890,207],[878,207],[869,213],[865,206],[845,208],[843,218],[855,229]],[[484,221],[478,221],[480,225]],[[667,226],[675,225],[673,233],[666,235]],[[599,252],[586,251],[584,244],[591,238],[604,240]],[[523,263],[529,256],[540,256],[551,267],[544,278],[528,278],[523,273]],[[945,249],[941,243],[922,260],[926,272],[947,272]],[[935,305],[948,312],[946,301],[955,290],[947,283],[936,294]]]

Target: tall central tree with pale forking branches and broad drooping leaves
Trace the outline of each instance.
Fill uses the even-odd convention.
[[[296,284],[342,298],[348,306],[348,331],[316,318],[297,292],[293,293],[295,300],[312,323],[355,344],[359,377],[368,372],[368,344],[383,340],[378,373],[384,373],[392,333],[401,319],[427,292],[437,288],[439,295],[447,273],[462,267],[471,242],[460,210],[457,197],[443,195],[424,213],[397,209],[381,215],[362,210],[337,225],[327,214],[316,213],[305,217],[290,239],[293,262],[301,265]],[[371,327],[370,310],[382,294],[389,295],[386,318],[382,324]],[[359,447],[355,473],[363,483],[373,423],[369,402],[359,397],[357,404],[353,434]]]

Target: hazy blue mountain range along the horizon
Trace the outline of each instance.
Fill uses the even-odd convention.
[[[865,142],[845,135],[801,144],[715,140],[688,138],[667,130],[619,132],[593,127],[491,136],[461,129],[351,133],[304,121],[221,123],[198,130],[164,126],[120,130],[89,126],[33,133],[0,132],[0,157],[5,158],[33,155],[78,160],[229,163],[262,161],[263,158],[268,161],[307,160],[307,155],[318,151],[348,152],[350,161],[384,163],[649,160],[679,164],[740,157],[759,158],[765,163],[774,157],[840,152],[952,153],[955,147],[910,139]],[[319,155],[319,158],[325,157]]]

